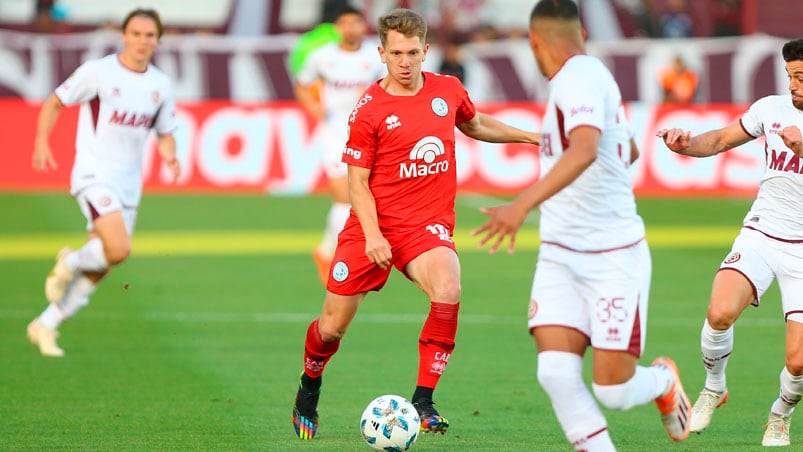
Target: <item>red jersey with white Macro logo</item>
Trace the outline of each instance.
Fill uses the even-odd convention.
[[[342,160],[371,170],[382,232],[426,224],[454,230],[454,128],[477,110],[457,78],[432,72],[423,77],[415,96],[394,96],[374,83],[349,116]]]

